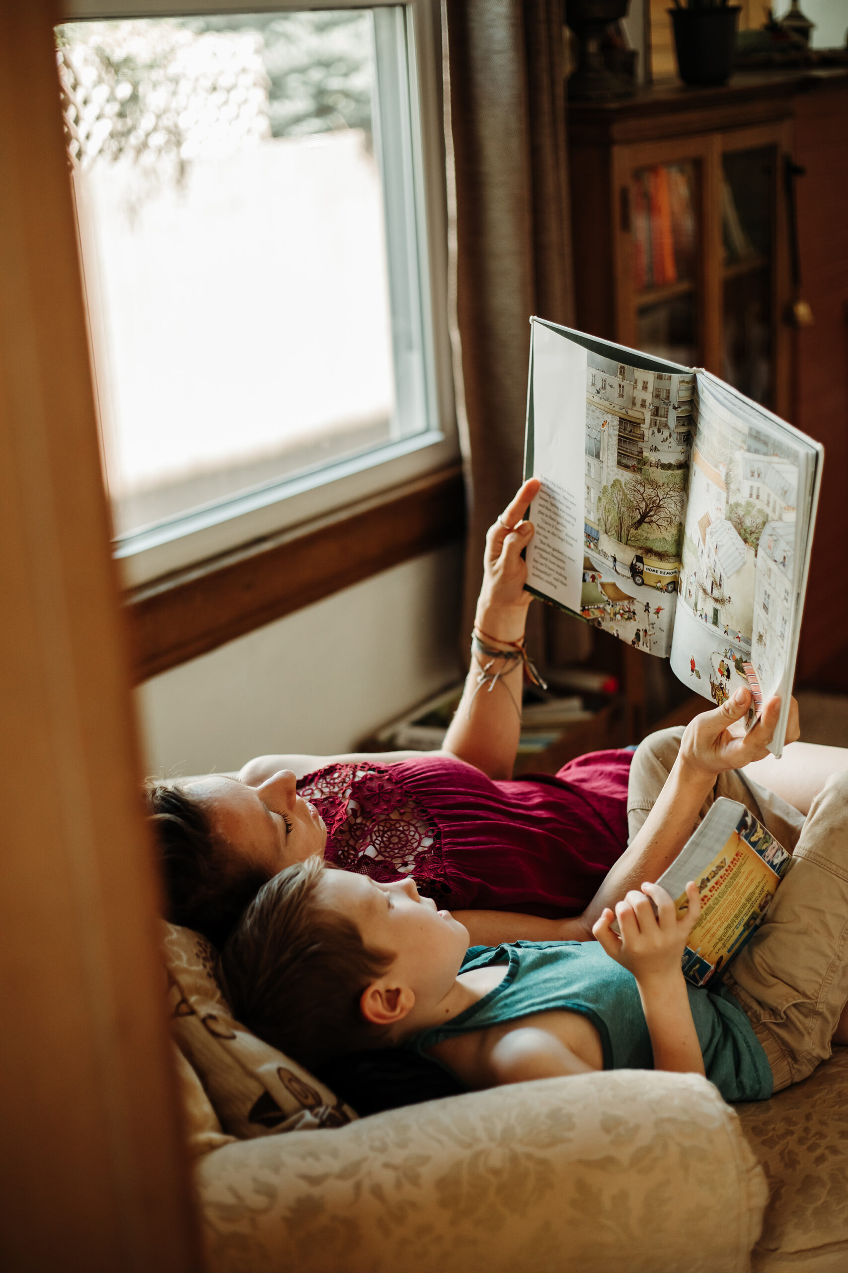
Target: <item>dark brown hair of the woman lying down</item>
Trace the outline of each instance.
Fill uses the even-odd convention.
[[[145,791],[165,886],[165,918],[207,937],[219,950],[268,878],[240,863],[212,831],[202,801],[178,783],[150,780]]]

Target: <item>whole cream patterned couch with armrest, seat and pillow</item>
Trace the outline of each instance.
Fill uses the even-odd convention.
[[[202,938],[165,960],[211,1273],[848,1268],[848,1049],[735,1109],[618,1071],[357,1118],[233,1020]]]

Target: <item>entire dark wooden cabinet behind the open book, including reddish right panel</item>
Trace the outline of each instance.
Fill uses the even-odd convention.
[[[568,112],[577,326],[706,367],[825,446],[800,681],[842,663],[848,630],[848,603],[820,603],[848,482],[847,131],[843,71],[669,83]],[[792,318],[795,248],[807,328]],[[627,662],[633,705],[643,659]]]

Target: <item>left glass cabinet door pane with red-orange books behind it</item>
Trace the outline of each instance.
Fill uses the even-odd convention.
[[[637,168],[631,179],[636,348],[698,365],[699,162]]]

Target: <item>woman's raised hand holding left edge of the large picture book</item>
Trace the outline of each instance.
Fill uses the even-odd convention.
[[[477,601],[475,621],[498,640],[520,640],[524,635],[533,597],[524,591],[528,568],[521,552],[533,538],[533,523],[521,521],[521,514],[538,495],[540,485],[538,477],[525,481],[486,536],[483,587]]]

